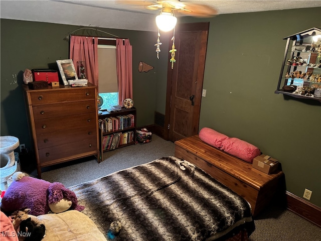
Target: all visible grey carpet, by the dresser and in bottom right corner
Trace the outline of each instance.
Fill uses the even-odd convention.
[[[43,168],[42,178],[70,187],[157,158],[173,156],[174,151],[174,143],[153,135],[151,143],[105,152],[104,161],[99,164],[87,158]],[[36,176],[37,173],[33,172],[32,175]],[[255,225],[256,230],[249,241],[321,241],[320,227],[277,205],[262,211],[255,218]]]

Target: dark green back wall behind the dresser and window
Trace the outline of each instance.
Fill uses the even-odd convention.
[[[18,137],[20,143],[31,148],[22,89],[23,72],[27,68],[58,70],[56,60],[69,58],[69,43],[63,39],[80,27],[1,19],[1,136]],[[137,126],[152,124],[157,88],[155,76],[159,63],[154,46],[157,33],[100,30],[130,40],[133,46],[133,101],[137,108]],[[75,34],[112,37],[90,30],[80,30]],[[154,69],[139,73],[139,61]]]

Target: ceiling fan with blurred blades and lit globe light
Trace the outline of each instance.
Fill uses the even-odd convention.
[[[156,25],[162,31],[174,29],[177,23],[177,16],[192,16],[199,18],[209,18],[217,15],[217,10],[197,1],[116,1],[117,3],[131,6],[138,6],[151,11],[161,10],[156,16]]]

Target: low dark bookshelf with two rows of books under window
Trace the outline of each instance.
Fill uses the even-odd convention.
[[[135,144],[136,108],[121,108],[120,111],[102,111],[98,115],[99,148],[103,152]]]

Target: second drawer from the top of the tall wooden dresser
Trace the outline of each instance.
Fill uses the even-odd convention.
[[[96,101],[84,100],[78,102],[35,105],[33,106],[33,112],[34,119],[96,112]]]

